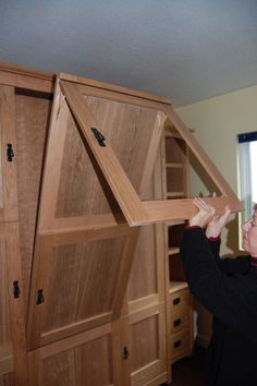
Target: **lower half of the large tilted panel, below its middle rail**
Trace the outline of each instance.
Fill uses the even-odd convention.
[[[130,273],[134,229],[88,231],[72,240],[38,238],[28,345],[32,348],[118,317]]]

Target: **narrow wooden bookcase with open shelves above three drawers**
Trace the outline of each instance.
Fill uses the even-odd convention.
[[[188,197],[188,148],[169,121],[166,124],[164,159],[167,198]],[[194,339],[192,298],[180,258],[180,244],[185,226],[184,219],[178,219],[166,226],[171,363],[191,354]]]

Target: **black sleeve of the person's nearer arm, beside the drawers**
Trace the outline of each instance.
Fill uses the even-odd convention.
[[[245,276],[228,276],[221,272],[201,228],[184,231],[181,257],[192,294],[222,323],[253,337],[257,321],[242,294]]]

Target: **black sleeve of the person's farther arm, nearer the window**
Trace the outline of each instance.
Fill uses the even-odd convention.
[[[249,270],[248,256],[236,258],[220,258],[220,239],[209,242],[210,252],[212,253],[219,268],[227,275],[243,274]]]

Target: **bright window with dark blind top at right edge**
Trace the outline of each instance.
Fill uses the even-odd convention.
[[[237,135],[240,161],[240,196],[245,205],[242,224],[253,214],[253,205],[257,203],[257,132]]]

